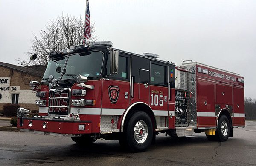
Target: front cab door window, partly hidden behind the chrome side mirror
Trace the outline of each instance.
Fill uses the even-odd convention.
[[[107,75],[110,74],[109,57],[107,61]],[[128,57],[118,57],[118,74],[111,75],[114,78],[128,79]]]

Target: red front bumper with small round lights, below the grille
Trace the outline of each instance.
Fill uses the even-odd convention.
[[[32,125],[30,124],[32,123]],[[30,124],[30,125],[29,125]],[[43,124],[46,124],[45,128]],[[84,125],[84,129],[81,126]],[[80,126],[80,129],[79,129]],[[91,133],[91,122],[80,120],[45,119],[40,117],[29,118],[20,117],[17,128],[24,132],[34,132],[37,134],[53,136],[79,136]]]

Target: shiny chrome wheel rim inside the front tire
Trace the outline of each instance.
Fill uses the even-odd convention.
[[[144,143],[148,137],[148,126],[143,121],[138,121],[134,126],[134,138],[137,143]]]

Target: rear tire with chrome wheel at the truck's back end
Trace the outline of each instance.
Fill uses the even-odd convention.
[[[218,120],[218,129],[216,131],[216,138],[223,142],[228,139],[230,135],[230,121],[226,115],[222,115]]]

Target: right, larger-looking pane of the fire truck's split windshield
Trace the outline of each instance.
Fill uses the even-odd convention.
[[[76,78],[79,74],[86,77],[99,77],[102,71],[102,62],[102,52],[70,55],[62,79]]]

